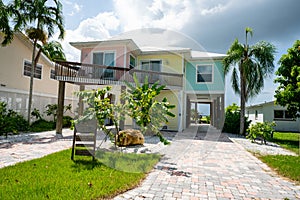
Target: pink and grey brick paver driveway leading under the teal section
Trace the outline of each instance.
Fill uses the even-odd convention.
[[[141,186],[115,199],[300,199],[300,186],[243,147],[218,141],[215,130],[207,140],[194,140],[196,132],[190,127],[178,134]]]

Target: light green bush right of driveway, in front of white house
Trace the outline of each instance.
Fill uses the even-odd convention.
[[[251,125],[247,130],[247,138],[250,139],[251,142],[254,142],[256,139],[261,139],[261,142],[266,144],[266,141],[269,141],[272,138],[274,126],[274,122],[257,122],[256,124]]]

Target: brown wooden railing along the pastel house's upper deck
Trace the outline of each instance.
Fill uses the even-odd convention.
[[[140,83],[148,77],[149,83],[159,81],[159,84],[167,87],[182,87],[183,75],[178,73],[166,73],[123,67],[110,67],[87,63],[56,61],[55,79],[74,84],[85,85],[123,85],[125,81],[133,82],[133,74],[136,74]]]

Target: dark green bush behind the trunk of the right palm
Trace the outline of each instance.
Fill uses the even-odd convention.
[[[248,129],[251,121],[245,117],[245,130]],[[226,110],[225,113],[225,122],[223,126],[223,132],[226,133],[240,133],[240,112],[234,110]]]

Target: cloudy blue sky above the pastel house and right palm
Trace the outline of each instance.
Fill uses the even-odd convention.
[[[235,38],[244,42],[244,29],[253,28],[250,44],[260,40],[277,47],[277,61],[300,39],[299,0],[62,0],[67,58],[79,61],[79,52],[68,43],[103,40],[142,28],[160,28],[190,38],[202,49],[224,53]],[[170,39],[170,38],[167,38]],[[167,40],[166,39],[166,40]],[[182,46],[184,43],[178,44]],[[249,104],[271,101],[274,75]],[[239,103],[226,78],[226,105]]]

